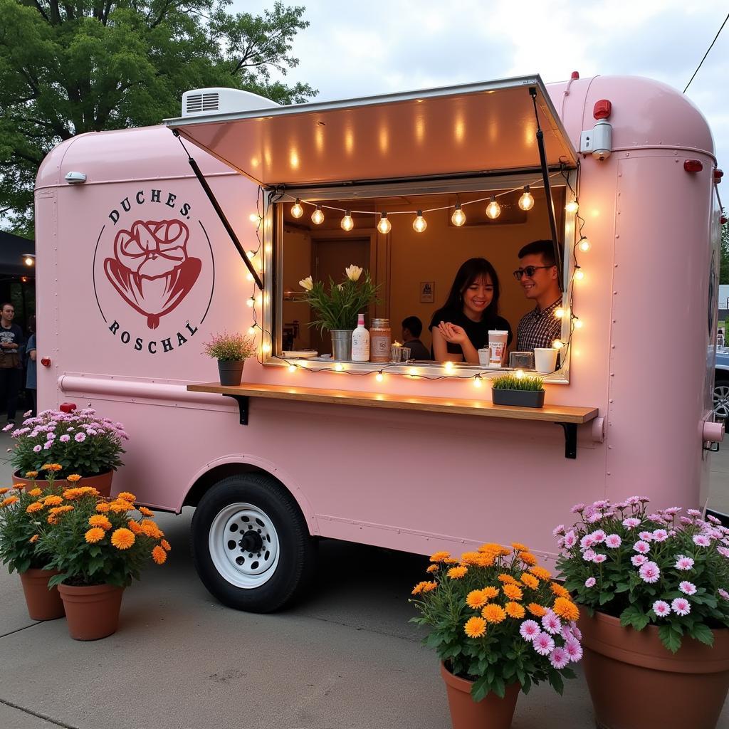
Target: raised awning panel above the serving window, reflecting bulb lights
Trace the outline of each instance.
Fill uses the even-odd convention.
[[[577,155],[539,76],[165,120],[266,187],[539,170]]]

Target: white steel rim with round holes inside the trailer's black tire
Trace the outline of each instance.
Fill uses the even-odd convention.
[[[253,504],[230,504],[214,518],[208,550],[215,569],[237,588],[268,582],[278,565],[278,534],[268,514]]]

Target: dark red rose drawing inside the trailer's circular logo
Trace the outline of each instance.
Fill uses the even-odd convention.
[[[149,329],[187,296],[202,262],[187,255],[190,230],[181,220],[137,220],[114,238],[104,272],[122,298],[147,316]]]

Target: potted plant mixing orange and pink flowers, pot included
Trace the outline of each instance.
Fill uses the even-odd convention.
[[[411,602],[427,625],[448,688],[453,729],[508,728],[521,688],[549,682],[562,693],[580,660],[580,612],[524,545],[486,544],[460,560],[430,558],[429,581]]]

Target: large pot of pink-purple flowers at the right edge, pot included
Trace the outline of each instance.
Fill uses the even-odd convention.
[[[576,504],[555,529],[587,615],[585,677],[607,729],[713,729],[729,689],[729,530],[649,499]]]

